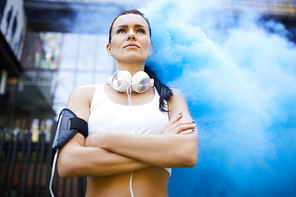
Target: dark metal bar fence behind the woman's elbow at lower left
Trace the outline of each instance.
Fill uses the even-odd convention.
[[[50,196],[52,139],[47,137],[39,131],[38,141],[32,141],[30,131],[0,130],[0,196]],[[56,197],[82,197],[85,188],[84,177],[60,179],[55,172]]]

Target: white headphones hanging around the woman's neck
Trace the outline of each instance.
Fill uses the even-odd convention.
[[[124,92],[131,85],[137,93],[145,92],[149,87],[154,86],[154,80],[144,71],[139,71],[133,76],[126,70],[115,72],[112,77],[106,77],[106,84],[111,85],[114,90]]]

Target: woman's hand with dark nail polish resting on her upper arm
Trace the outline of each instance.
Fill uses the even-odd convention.
[[[183,114],[180,113],[178,116],[173,118],[161,134],[192,134],[195,131],[194,121],[181,121]]]

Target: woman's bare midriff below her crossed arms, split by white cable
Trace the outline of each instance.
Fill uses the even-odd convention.
[[[88,177],[86,197],[130,197],[130,174],[107,177]],[[159,167],[133,172],[132,188],[135,196],[168,197],[169,174]]]

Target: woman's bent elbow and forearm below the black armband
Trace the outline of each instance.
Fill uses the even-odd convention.
[[[61,178],[110,176],[147,168],[150,165],[96,147],[84,147],[84,137],[76,134],[59,151]]]

